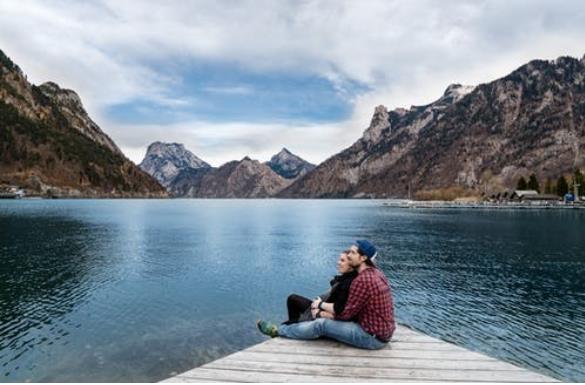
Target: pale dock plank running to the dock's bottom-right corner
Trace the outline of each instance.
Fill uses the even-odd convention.
[[[434,381],[473,381],[473,382],[548,382],[548,378],[528,371],[492,370],[437,370],[437,369],[382,369],[346,367],[343,365],[299,365],[291,363],[266,363],[223,359],[204,365],[205,369],[225,369],[238,371],[264,371],[278,374],[295,375],[302,373],[311,376],[350,377],[355,380],[434,380]]]

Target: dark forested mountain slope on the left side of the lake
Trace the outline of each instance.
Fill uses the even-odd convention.
[[[0,185],[46,196],[166,196],[91,120],[74,91],[29,83],[1,50]]]

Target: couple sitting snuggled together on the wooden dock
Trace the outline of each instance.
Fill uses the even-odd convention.
[[[375,258],[374,245],[357,241],[340,255],[341,275],[331,281],[326,300],[293,294],[287,301],[289,320],[280,326],[258,321],[258,329],[271,337],[327,337],[363,349],[383,348],[395,323],[390,286]]]

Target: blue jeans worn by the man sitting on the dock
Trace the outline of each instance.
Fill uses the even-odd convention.
[[[278,326],[278,335],[295,340],[314,340],[328,337],[362,349],[382,349],[386,343],[378,341],[355,322],[317,318],[314,321]]]

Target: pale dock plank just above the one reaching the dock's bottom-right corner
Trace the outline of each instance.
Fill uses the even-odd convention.
[[[348,360],[349,358],[349,360]],[[234,353],[224,359],[253,362],[286,362],[307,365],[344,365],[368,368],[403,368],[403,369],[459,369],[459,370],[498,370],[523,371],[517,366],[496,360],[489,361],[456,361],[447,359],[413,360],[405,358],[386,357],[338,357],[334,354],[315,356],[308,354],[255,353],[242,351]]]

